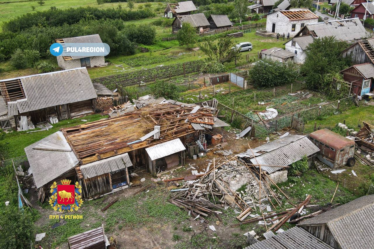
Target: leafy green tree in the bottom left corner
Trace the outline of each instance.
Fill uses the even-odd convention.
[[[34,242],[35,226],[30,210],[17,206],[0,209],[0,248],[30,248]]]

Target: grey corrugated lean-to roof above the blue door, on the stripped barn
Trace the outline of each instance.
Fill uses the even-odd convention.
[[[132,166],[132,162],[129,154],[125,153],[82,165],[80,166],[80,170],[82,171],[83,177],[87,179],[105,173],[115,172],[130,166]]]

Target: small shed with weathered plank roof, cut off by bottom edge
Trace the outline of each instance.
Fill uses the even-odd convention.
[[[109,245],[104,226],[68,238],[69,249],[105,249]]]

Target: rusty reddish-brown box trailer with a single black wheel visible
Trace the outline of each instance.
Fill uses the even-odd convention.
[[[355,165],[353,154],[355,142],[329,129],[316,130],[309,134],[309,139],[318,148],[318,159],[326,165],[337,169],[345,165]]]

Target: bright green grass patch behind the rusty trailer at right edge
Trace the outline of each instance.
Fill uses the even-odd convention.
[[[346,120],[347,126],[359,130],[358,122],[364,121],[374,125],[374,106],[361,106],[351,110],[344,111],[341,114],[330,116],[324,120],[316,120],[317,125],[323,127],[334,127],[337,123],[343,123]]]

